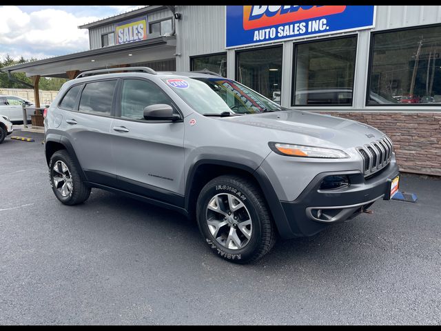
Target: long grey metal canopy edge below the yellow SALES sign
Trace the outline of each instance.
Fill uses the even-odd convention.
[[[52,57],[1,68],[3,72],[25,72],[26,76],[63,77],[68,78],[67,72],[110,68],[127,65],[174,59],[176,53],[176,36],[158,37],[126,43],[96,50],[88,50],[61,57]]]

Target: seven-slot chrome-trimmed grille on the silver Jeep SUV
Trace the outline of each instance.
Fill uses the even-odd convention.
[[[367,177],[389,164],[392,158],[393,145],[391,139],[384,137],[358,147],[357,150],[362,156],[365,177]]]

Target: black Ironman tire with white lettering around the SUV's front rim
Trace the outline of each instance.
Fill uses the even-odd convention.
[[[249,217],[251,217],[251,237],[249,239],[243,237],[244,242],[247,242],[243,248],[238,249],[238,246],[236,246],[235,249],[229,249],[225,247],[225,245],[222,245],[222,243],[218,241],[222,241],[223,239],[219,236],[218,240],[216,240],[212,232],[209,230],[207,218],[211,219],[213,214],[210,214],[212,211],[207,210],[207,208],[210,201],[212,201],[212,199],[218,194],[220,194],[218,196],[220,197],[220,200],[227,199],[228,196],[224,194],[232,194],[234,198],[239,197],[240,199],[237,199],[236,201],[240,201],[245,205],[243,210],[248,212]],[[225,208],[226,203],[222,204]],[[236,212],[234,212],[233,215],[236,215]],[[222,221],[222,217],[224,216],[225,215],[220,215],[220,221]],[[258,186],[244,177],[223,175],[209,181],[199,194],[196,204],[196,218],[199,230],[201,230],[209,247],[214,253],[227,261],[241,264],[257,261],[271,250],[276,241],[276,229],[271,220],[271,215],[265,198],[263,197],[263,193]],[[238,222],[240,222],[240,215],[238,218]],[[223,218],[223,220],[225,219],[227,219],[227,217]],[[232,219],[229,220],[232,221]],[[218,220],[216,219],[216,221]],[[234,229],[237,229],[238,225],[240,225],[240,223],[236,224]],[[223,238],[225,238],[227,236],[225,231],[229,232],[232,225],[223,225],[223,228],[225,229],[223,230],[222,235],[224,236]],[[218,236],[218,233],[219,232],[217,232],[216,236]],[[240,232],[238,233],[241,234]],[[226,239],[226,241],[227,240],[228,239]]]

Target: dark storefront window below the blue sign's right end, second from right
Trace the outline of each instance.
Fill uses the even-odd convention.
[[[351,106],[356,46],[356,37],[297,44],[293,106]]]

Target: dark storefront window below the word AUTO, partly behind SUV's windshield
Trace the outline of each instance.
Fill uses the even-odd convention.
[[[280,104],[282,57],[282,46],[237,52],[237,81]]]

